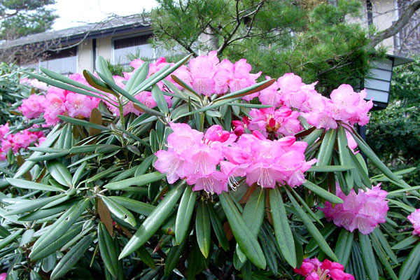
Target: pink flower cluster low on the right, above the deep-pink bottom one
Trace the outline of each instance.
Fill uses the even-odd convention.
[[[322,211],[327,220],[332,220],[335,225],[350,232],[358,229],[363,235],[368,235],[379,223],[385,223],[388,211],[386,195],[388,193],[381,190],[380,183],[372,186],[372,189],[358,190],[357,194],[351,190],[349,195],[344,195],[337,184],[337,196],[344,203],[333,206],[330,202],[325,202]]]

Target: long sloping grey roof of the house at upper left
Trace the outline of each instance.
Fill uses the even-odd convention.
[[[124,34],[132,31],[151,30],[151,22],[141,15],[130,15],[103,20],[102,22],[90,23],[79,27],[71,27],[57,31],[47,31],[32,34],[12,41],[4,41],[0,49],[13,48],[19,45],[55,41],[62,45],[82,42],[87,39]]]

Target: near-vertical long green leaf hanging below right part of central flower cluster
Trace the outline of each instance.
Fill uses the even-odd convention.
[[[286,208],[284,208],[283,199],[277,187],[269,189],[269,206],[272,214],[274,235],[279,244],[281,255],[283,255],[283,258],[289,265],[296,267],[295,241],[290,229]]]

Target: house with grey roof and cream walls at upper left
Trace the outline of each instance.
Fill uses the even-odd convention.
[[[111,64],[128,64],[127,54],[139,52],[141,57],[159,57],[158,50],[148,44],[152,36],[150,22],[139,15],[112,18],[105,22],[47,31],[5,41],[1,50],[13,48],[38,48],[46,53],[25,66],[38,66],[68,74],[92,71],[95,59],[102,56]]]

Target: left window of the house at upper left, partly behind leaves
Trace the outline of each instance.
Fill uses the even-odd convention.
[[[39,65],[61,74],[76,73],[77,47],[67,48],[59,52],[47,52],[47,56],[41,60]]]

